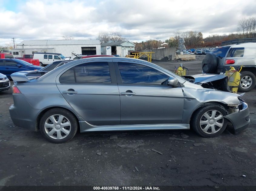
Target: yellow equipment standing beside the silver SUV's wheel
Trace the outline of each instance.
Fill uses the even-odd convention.
[[[230,66],[230,70],[225,72],[225,75],[228,76],[228,86],[231,87],[231,91],[234,93],[237,93],[238,91],[241,69],[242,66],[239,71],[236,70],[234,67]]]

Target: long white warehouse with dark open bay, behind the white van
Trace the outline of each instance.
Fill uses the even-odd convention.
[[[72,53],[82,55],[100,55],[99,40],[24,40],[12,49],[14,57],[33,53],[61,53],[69,57]]]

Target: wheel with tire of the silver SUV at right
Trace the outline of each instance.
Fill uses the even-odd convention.
[[[249,71],[242,71],[240,76],[240,83],[238,86],[238,91],[248,92],[251,91],[255,86],[255,75]]]

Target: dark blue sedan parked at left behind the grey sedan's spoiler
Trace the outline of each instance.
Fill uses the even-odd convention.
[[[40,70],[41,66],[35,66],[19,59],[0,59],[0,73],[11,79],[11,74],[25,70]]]

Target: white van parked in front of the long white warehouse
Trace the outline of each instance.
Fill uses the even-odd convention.
[[[60,53],[34,53],[33,59],[38,59],[40,66],[51,64],[54,61],[65,60]]]

